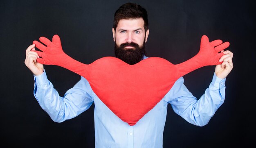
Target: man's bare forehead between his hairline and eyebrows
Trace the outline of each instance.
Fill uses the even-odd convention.
[[[144,20],[142,18],[137,19],[122,19],[119,20],[117,29],[137,29],[141,28],[144,30]]]

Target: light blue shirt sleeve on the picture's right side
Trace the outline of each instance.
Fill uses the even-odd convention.
[[[225,81],[214,73],[212,82],[199,98],[195,98],[186,88],[184,78],[179,78],[169,94],[171,107],[191,124],[204,126],[225,100]]]

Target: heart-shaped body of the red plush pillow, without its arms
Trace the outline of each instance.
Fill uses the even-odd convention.
[[[162,58],[128,65],[115,57],[104,57],[87,65],[85,78],[113,113],[134,125],[164,98],[179,76],[175,66]]]

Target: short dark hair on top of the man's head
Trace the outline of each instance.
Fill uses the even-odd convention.
[[[148,30],[148,13],[146,9],[136,3],[128,2],[126,4],[123,4],[115,12],[113,28],[116,30],[119,20],[137,18],[142,18],[144,20],[144,29],[146,32]]]

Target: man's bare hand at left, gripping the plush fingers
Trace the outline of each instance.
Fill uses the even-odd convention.
[[[35,44],[32,44],[27,48],[25,65],[34,75],[38,76],[43,74],[44,68],[43,64],[36,62],[36,59],[39,58],[39,56],[38,53],[34,52],[35,50]]]

